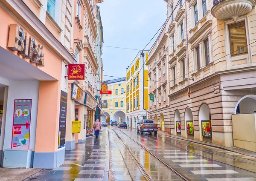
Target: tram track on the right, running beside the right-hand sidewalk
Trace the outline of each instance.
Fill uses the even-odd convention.
[[[124,133],[124,134],[125,134],[125,133]],[[126,134],[125,134],[125,135],[126,135]],[[161,140],[158,140],[157,138],[154,138],[154,137],[151,137],[151,136],[148,136],[148,135],[144,135],[144,136],[145,136],[146,138],[149,138],[149,139],[154,140],[154,141],[155,141],[155,140],[161,141]],[[159,135],[157,135],[157,136],[159,136]],[[168,140],[168,139],[167,139],[167,140]],[[171,140],[169,140],[169,141],[171,141]],[[229,166],[231,166],[231,167],[236,167],[236,168],[238,168],[238,169],[245,170],[245,171],[247,171],[247,172],[251,172],[251,173],[256,174],[256,172],[254,172],[254,171],[247,170],[247,169],[244,169],[244,168],[242,168],[242,167],[237,167],[237,166],[232,165],[232,164],[227,164],[227,163],[225,163],[225,162],[223,162],[223,161],[218,161],[218,160],[215,160],[215,159],[213,159],[213,158],[210,158],[210,157],[207,157],[207,156],[204,156],[204,155],[200,155],[200,154],[198,154],[198,153],[189,151],[189,150],[187,150],[187,149],[183,149],[183,148],[177,147],[176,145],[166,143],[165,141],[161,141],[161,142],[163,142],[164,144],[171,145],[172,147],[176,147],[177,149],[182,149],[182,150],[184,150],[184,151],[186,151],[186,152],[193,153],[194,155],[198,155],[198,156],[201,156],[201,157],[203,157],[203,158],[207,158],[207,159],[210,159],[210,160],[212,160],[212,161],[219,162],[219,163],[221,163],[221,164],[229,165]],[[180,143],[180,142],[178,142],[178,141],[175,141],[175,142],[176,142],[176,143],[179,143],[179,144],[183,144],[183,143]],[[186,144],[183,144],[183,145],[186,145]],[[192,146],[189,146],[189,145],[186,145],[186,146],[187,146],[187,147],[192,147]],[[198,148],[196,148],[196,149],[198,149]],[[201,151],[204,151],[204,152],[207,152],[207,151],[204,150],[204,149],[200,149],[200,150],[201,150]],[[215,155],[218,155],[218,156],[222,156],[222,157],[225,157],[225,158],[229,158],[229,159],[232,159],[232,160],[235,160],[235,161],[241,161],[241,160],[236,159],[236,158],[230,158],[230,157],[227,157],[227,156],[224,156],[224,155],[220,155],[220,154],[216,154],[216,153],[212,153],[212,152],[209,152],[209,153],[215,154]],[[241,161],[241,162],[243,162],[243,163],[245,163],[245,164],[251,164],[251,163],[246,162],[246,161]],[[251,165],[255,165],[255,166],[256,166],[256,164],[251,164]]]

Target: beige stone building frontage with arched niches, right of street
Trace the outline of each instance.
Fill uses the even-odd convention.
[[[255,151],[255,0],[165,1],[169,21],[147,63],[160,100],[149,116],[172,135]]]

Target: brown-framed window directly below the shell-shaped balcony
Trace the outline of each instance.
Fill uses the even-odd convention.
[[[244,21],[228,26],[231,55],[247,53],[247,40]]]

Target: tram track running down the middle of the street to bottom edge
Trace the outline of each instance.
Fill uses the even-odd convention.
[[[111,128],[112,129],[112,128]],[[134,160],[137,162],[137,165],[141,168],[141,170],[143,171],[143,174],[145,174],[145,176],[147,177],[147,179],[149,181],[154,181],[150,175],[148,175],[148,172],[145,170],[145,168],[140,164],[140,162],[137,160],[137,158],[134,156],[134,154],[129,150],[129,148],[127,147],[127,145],[125,144],[125,142],[122,140],[122,138],[120,138],[120,136],[117,134],[116,129],[112,129],[113,132],[115,132],[115,134],[117,135],[117,137],[119,138],[119,140],[122,142],[122,144],[124,144],[125,148],[127,149],[127,151],[132,155],[132,157],[134,158]],[[147,148],[145,148],[142,144],[138,143],[137,141],[135,141],[133,138],[131,138],[129,135],[127,135],[125,132],[123,132],[122,130],[119,130],[120,132],[122,132],[125,136],[127,136],[128,138],[130,138],[132,141],[134,141],[137,145],[139,145],[140,147],[142,147],[146,152],[148,152],[150,155],[152,155],[154,158],[157,159],[157,161],[160,161],[160,163],[162,163],[163,165],[165,165],[169,170],[171,170],[173,173],[175,173],[175,175],[177,175],[180,179],[182,179],[183,181],[191,181],[190,178],[187,178],[186,176],[184,176],[183,174],[181,174],[179,171],[177,171],[176,169],[172,168],[169,166],[169,164],[167,164],[165,161],[163,161],[161,158],[158,158],[157,155],[155,155],[153,152],[151,152],[150,150],[148,150]],[[145,177],[145,178],[146,178]]]

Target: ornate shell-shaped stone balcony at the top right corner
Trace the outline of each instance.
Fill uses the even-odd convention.
[[[255,0],[213,0],[212,15],[219,20],[237,20],[249,13],[255,6]]]

